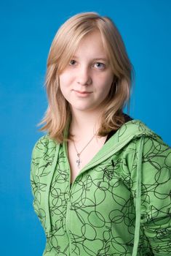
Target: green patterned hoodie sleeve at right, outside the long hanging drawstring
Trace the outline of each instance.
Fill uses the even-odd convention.
[[[141,229],[154,255],[171,255],[171,148],[145,137],[141,170],[135,169],[141,172]]]

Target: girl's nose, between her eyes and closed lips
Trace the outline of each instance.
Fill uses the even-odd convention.
[[[92,83],[89,67],[80,67],[77,75],[77,83],[81,86],[87,86]]]

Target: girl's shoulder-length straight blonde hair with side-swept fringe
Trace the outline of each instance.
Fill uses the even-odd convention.
[[[40,124],[40,130],[48,131],[49,137],[63,142],[66,124],[71,118],[68,102],[60,91],[59,75],[71,60],[81,39],[92,31],[100,31],[106,54],[114,72],[114,82],[103,108],[99,136],[124,124],[122,109],[130,99],[132,64],[127,56],[121,35],[108,17],[96,12],[84,12],[69,18],[57,31],[47,59],[46,88],[49,105]]]

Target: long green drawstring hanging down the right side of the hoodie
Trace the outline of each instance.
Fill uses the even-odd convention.
[[[132,256],[136,256],[138,252],[138,244],[140,238],[140,199],[141,199],[141,178],[142,178],[142,158],[143,158],[143,136],[140,138],[138,146],[138,164],[137,164],[137,187],[136,187],[136,204],[135,204],[135,236]]]

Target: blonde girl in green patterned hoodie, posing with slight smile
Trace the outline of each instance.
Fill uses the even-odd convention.
[[[132,65],[111,19],[75,15],[47,61],[47,131],[33,148],[45,256],[171,255],[171,149],[122,112]]]

